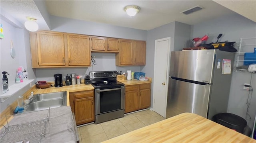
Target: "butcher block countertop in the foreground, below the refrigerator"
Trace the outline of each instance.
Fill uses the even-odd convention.
[[[103,143],[256,143],[256,140],[192,113],[183,113]]]

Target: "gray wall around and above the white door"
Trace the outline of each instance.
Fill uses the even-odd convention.
[[[172,22],[162,25],[148,31],[146,66],[142,67],[142,72],[146,72],[148,77],[154,78],[154,52],[155,40],[171,37],[170,51],[179,51],[186,46],[187,40],[190,38],[190,25],[180,22]],[[166,59],[168,60],[168,59]],[[161,74],[161,73],[158,73]],[[151,84],[151,106],[153,105],[153,82]]]

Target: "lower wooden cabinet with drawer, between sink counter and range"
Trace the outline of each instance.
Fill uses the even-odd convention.
[[[70,92],[69,99],[76,125],[95,121],[94,90]]]

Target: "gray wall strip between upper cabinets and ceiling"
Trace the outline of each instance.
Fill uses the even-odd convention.
[[[58,16],[50,16],[52,31],[78,33],[86,35],[147,40],[147,31],[127,27],[87,22]]]

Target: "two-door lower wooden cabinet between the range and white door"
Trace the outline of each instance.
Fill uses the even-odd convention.
[[[124,112],[133,112],[150,107],[151,84],[125,86]]]

